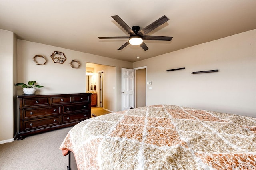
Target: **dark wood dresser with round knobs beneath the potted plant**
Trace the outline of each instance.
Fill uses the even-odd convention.
[[[19,95],[18,140],[91,117],[92,93]]]

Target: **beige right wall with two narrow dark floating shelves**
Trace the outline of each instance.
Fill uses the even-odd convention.
[[[147,81],[152,81],[147,105],[256,117],[256,30],[133,63],[133,68],[142,66],[147,66]],[[186,69],[166,72],[180,67]],[[214,69],[219,72],[191,74]]]

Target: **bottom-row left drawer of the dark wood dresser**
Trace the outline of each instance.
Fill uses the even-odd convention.
[[[60,116],[44,119],[36,119],[23,122],[23,130],[32,130],[37,128],[50,127],[60,125]]]

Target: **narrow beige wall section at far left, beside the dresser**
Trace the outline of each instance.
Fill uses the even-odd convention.
[[[0,30],[0,144],[14,140],[16,133],[17,38],[13,32]]]

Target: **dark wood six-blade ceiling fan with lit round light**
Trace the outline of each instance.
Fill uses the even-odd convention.
[[[99,39],[114,39],[114,38],[129,38],[129,41],[122,45],[118,50],[123,49],[129,44],[132,45],[140,45],[142,49],[145,51],[148,50],[147,45],[143,42],[143,40],[160,40],[160,41],[171,41],[172,37],[166,36],[147,36],[149,32],[153,31],[160,25],[164,24],[169,20],[165,15],[159,18],[158,20],[152,22],[142,30],[140,30],[139,26],[132,26],[132,29],[117,15],[111,16],[130,36],[121,36],[121,37],[99,37]]]

